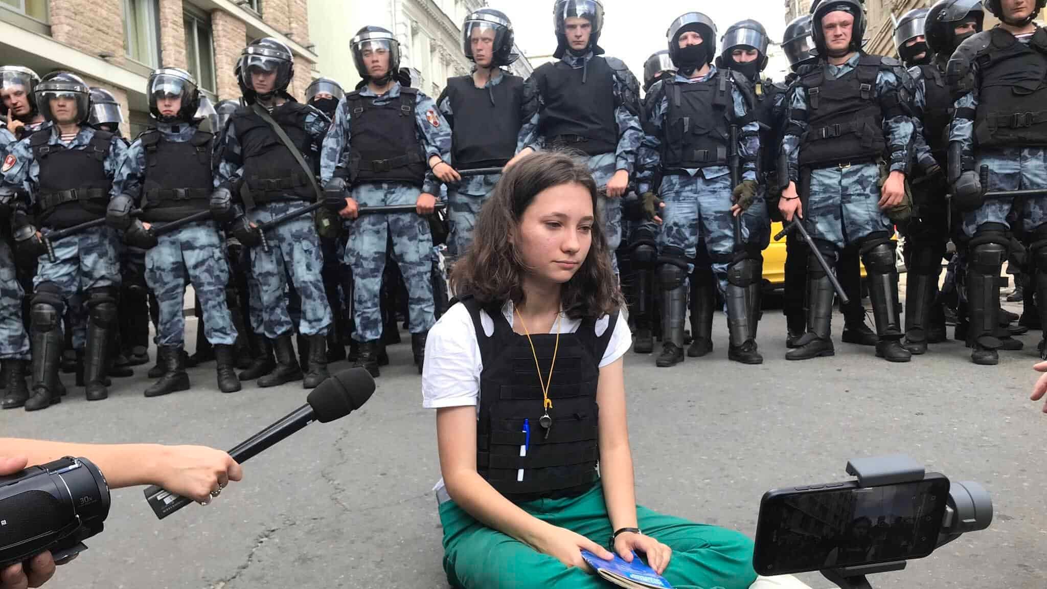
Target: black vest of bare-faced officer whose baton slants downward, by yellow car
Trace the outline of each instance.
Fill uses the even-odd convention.
[[[807,89],[807,132],[800,139],[800,166],[868,161],[881,157],[884,115],[876,99],[879,56],[863,54],[857,66],[829,80],[819,63],[800,78]]]

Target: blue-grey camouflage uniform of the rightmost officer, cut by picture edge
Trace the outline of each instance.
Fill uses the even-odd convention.
[[[1019,39],[1028,43],[1028,38]],[[979,79],[977,61],[971,62],[971,75]],[[978,109],[978,87],[956,100],[957,115],[949,128],[949,140],[959,141],[963,158],[974,157],[975,171],[988,167],[988,186],[983,191],[1007,191],[1047,188],[1047,150],[1041,147],[1008,147],[1004,149],[978,149],[974,145],[974,121],[960,116],[961,112],[974,113]],[[964,110],[961,110],[964,109]],[[966,110],[970,109],[970,110]],[[1047,223],[1047,196],[1027,197],[1021,211],[1016,211],[1022,219],[1022,228],[1031,232]],[[974,236],[983,223],[1004,223],[1010,227],[1007,214],[1015,203],[1013,198],[986,199],[975,211],[963,214],[963,233]]]

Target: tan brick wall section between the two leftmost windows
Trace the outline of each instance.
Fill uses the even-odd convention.
[[[124,63],[121,0],[55,0],[48,2],[48,16],[55,41],[92,56],[109,51],[112,63]]]

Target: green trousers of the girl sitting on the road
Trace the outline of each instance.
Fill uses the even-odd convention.
[[[603,487],[573,499],[542,499],[521,503],[532,516],[580,533],[598,544],[610,537],[610,520]],[[640,529],[672,548],[663,576],[675,589],[747,589],[756,581],[753,542],[717,526],[695,524],[637,506]],[[567,568],[553,557],[476,521],[447,501],[440,505],[444,527],[444,570],[454,589],[608,589],[609,582],[578,568]]]

